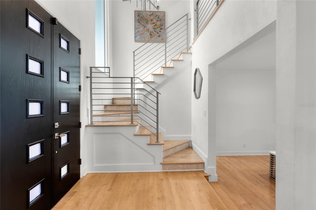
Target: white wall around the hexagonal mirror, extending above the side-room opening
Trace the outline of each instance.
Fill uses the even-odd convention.
[[[201,97],[192,94],[192,141],[203,158],[207,158],[207,173],[216,181],[216,140],[209,131],[208,82],[209,64],[276,20],[276,1],[225,0],[216,15],[192,47],[192,75],[199,68],[204,78]],[[205,81],[205,82],[204,82]],[[206,111],[206,117],[203,111]]]

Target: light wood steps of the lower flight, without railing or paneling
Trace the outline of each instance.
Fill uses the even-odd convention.
[[[94,126],[132,126],[130,125],[130,98],[113,98],[113,104],[104,105],[104,111],[94,114],[93,118],[104,118],[106,122],[95,123]],[[138,110],[138,105],[133,105],[134,112]],[[134,125],[137,136],[147,136],[147,145],[162,145],[162,162],[160,163],[163,171],[175,170],[203,170],[204,162],[190,146],[191,140],[163,140],[161,133],[152,133],[151,126],[140,126],[141,120],[135,120]],[[90,125],[92,126],[92,125]]]

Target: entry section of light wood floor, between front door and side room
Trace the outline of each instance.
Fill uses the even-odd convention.
[[[212,210],[208,197],[214,190],[203,174],[87,174],[53,210]],[[219,198],[214,202],[226,209]]]

